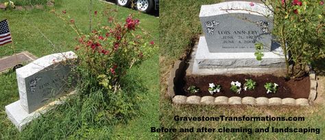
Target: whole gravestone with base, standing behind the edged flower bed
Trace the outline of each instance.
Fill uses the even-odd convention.
[[[200,37],[193,74],[264,73],[283,71],[285,56],[272,36],[273,13],[263,3],[229,1],[202,5]],[[263,44],[256,60],[255,44]]]

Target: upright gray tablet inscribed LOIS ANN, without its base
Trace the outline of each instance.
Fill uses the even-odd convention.
[[[254,52],[255,43],[262,43],[264,51],[278,47],[270,34],[273,13],[262,3],[202,5],[200,20],[210,52]]]

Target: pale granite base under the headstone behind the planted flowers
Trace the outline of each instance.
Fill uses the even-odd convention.
[[[210,53],[204,36],[200,37],[191,61],[191,71],[187,72],[195,75],[285,73],[285,56],[280,47],[274,51],[264,52],[263,59],[259,61],[256,60],[254,52]]]

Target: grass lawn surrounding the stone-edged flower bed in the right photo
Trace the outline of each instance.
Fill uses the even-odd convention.
[[[167,96],[167,78],[173,62],[184,59],[198,36],[202,33],[199,19],[200,6],[220,2],[206,1],[161,1],[160,3],[160,117],[161,126],[165,128],[320,128],[320,134],[315,133],[257,133],[245,132],[164,132],[161,139],[324,139],[325,104],[324,104],[324,66],[315,63],[318,76],[318,96],[316,104],[301,106],[204,106],[172,104]],[[175,22],[177,21],[177,22]],[[324,63],[323,63],[324,64]],[[249,116],[265,117],[305,117],[305,121],[174,121],[173,117],[230,117]]]

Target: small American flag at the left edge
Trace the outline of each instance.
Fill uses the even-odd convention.
[[[11,35],[9,31],[8,21],[5,19],[0,22],[0,45],[11,43]]]

